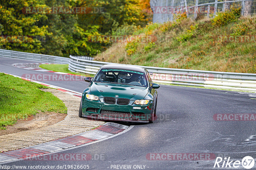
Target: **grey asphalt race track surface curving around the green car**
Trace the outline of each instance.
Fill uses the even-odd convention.
[[[36,63],[36,61],[0,58],[0,72],[18,76],[43,73],[12,66],[14,63],[23,62]],[[84,81],[42,82],[77,92],[82,92],[88,86]],[[254,93],[161,85],[158,89],[157,120],[154,124],[128,124],[134,127],[121,135],[58,152],[89,153],[92,155],[92,160],[18,160],[4,163],[4,165],[55,167],[66,165],[67,169],[74,169],[68,168],[68,165],[89,165],[89,169],[117,169],[122,165],[131,165],[131,169],[134,167],[135,169],[140,167],[144,169],[225,169],[225,167],[213,167],[215,158],[212,160],[202,158],[196,161],[178,158],[150,160],[146,155],[210,153],[223,159],[225,155],[230,157],[230,160],[241,161],[245,156],[255,159],[255,121],[213,119],[214,114],[255,114],[255,99]],[[124,124],[127,125],[127,123]],[[240,166],[233,169],[244,168]]]

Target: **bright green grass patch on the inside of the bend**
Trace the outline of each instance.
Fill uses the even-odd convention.
[[[0,73],[0,129],[13,125],[18,119],[36,115],[38,111],[66,114],[65,104],[48,87]]]

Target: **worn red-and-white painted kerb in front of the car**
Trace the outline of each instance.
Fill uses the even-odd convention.
[[[123,132],[128,127],[129,126],[112,122],[105,123],[91,131],[79,133],[65,138],[60,138],[43,144],[33,145],[14,151],[0,153],[0,162],[2,163],[18,159],[28,159],[29,157],[33,156],[84,145]]]

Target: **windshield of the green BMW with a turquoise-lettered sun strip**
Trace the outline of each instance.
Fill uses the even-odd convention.
[[[148,87],[145,73],[123,69],[102,69],[96,75],[94,82]]]

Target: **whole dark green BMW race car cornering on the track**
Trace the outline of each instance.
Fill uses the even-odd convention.
[[[84,89],[79,117],[153,123],[156,117],[157,91],[149,72],[142,67],[107,64]]]

